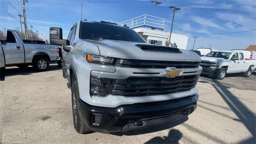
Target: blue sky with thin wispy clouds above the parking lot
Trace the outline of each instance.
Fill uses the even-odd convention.
[[[239,32],[256,30],[256,0],[158,0],[162,4],[155,6],[150,0],[28,0],[26,14],[28,28],[34,26],[39,35],[47,33],[50,27],[63,28],[64,38],[67,37],[72,25],[81,18],[81,3],[83,2],[83,19],[92,21],[122,22],[142,14],[150,14],[164,18],[166,31],[170,31],[172,12],[169,6],[180,7],[175,14],[173,32],[189,35],[188,46],[193,46],[193,36],[196,39],[195,48],[209,47],[231,50],[244,49],[256,45],[256,32],[213,35],[212,33]],[[21,2],[9,0],[21,11]],[[10,16],[17,16],[7,0],[0,2],[0,28],[20,28],[20,23]],[[211,34],[196,34],[211,33]],[[48,34],[47,34],[48,35]]]

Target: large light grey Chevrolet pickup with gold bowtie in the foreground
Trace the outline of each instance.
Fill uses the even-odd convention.
[[[111,22],[78,21],[63,46],[63,76],[72,92],[78,133],[119,132],[168,124],[196,110],[200,57],[147,44],[134,30]]]

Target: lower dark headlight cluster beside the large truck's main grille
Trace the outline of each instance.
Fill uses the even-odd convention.
[[[113,79],[100,78],[91,76],[90,80],[90,95],[91,96],[108,96],[113,85]]]

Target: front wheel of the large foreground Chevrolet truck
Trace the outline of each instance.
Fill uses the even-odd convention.
[[[73,112],[74,127],[76,129],[76,132],[78,132],[79,134],[87,134],[91,131],[86,127],[84,121],[79,116],[78,107],[77,107],[79,93],[78,93],[78,86],[76,81],[72,82],[71,94],[72,94],[72,112]]]

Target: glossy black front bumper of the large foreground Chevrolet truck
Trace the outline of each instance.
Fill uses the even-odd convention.
[[[96,132],[120,132],[165,124],[187,117],[196,110],[198,94],[173,100],[120,105],[116,108],[91,106],[79,99],[78,112],[86,126]],[[93,125],[93,114],[103,116]],[[142,122],[138,125],[138,122]],[[136,125],[137,124],[137,125]]]

